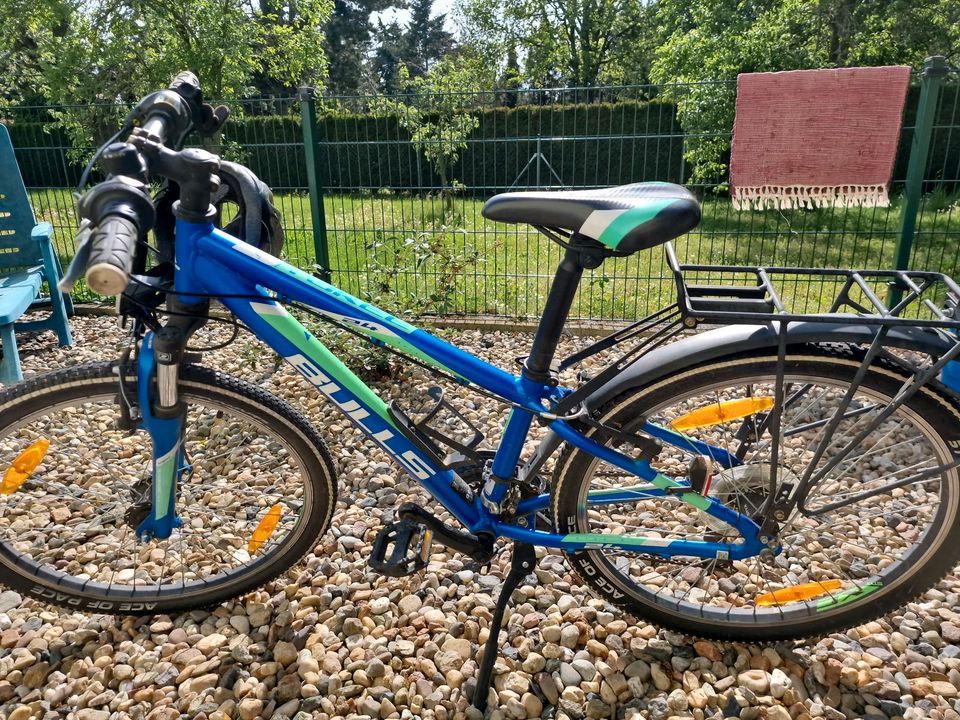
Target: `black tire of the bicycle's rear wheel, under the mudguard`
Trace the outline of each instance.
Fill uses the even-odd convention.
[[[771,351],[773,352],[773,351]],[[852,378],[860,366],[862,352],[840,346],[807,346],[788,348],[787,373],[799,377],[825,378],[825,381],[843,381]],[[649,417],[648,412],[670,404],[671,398],[695,393],[711,384],[741,380],[754,381],[773,371],[776,355],[738,355],[719,358],[688,368],[650,386],[635,388],[607,402],[596,413],[602,422],[613,422],[629,428]],[[867,372],[861,388],[878,396],[892,396],[907,377],[899,365],[878,360]],[[952,458],[951,448],[960,444],[960,405],[942,386],[935,383],[920,389],[907,403],[911,417],[922,418],[935,436],[938,448]],[[898,410],[900,412],[900,410]],[[555,531],[561,534],[589,532],[585,513],[578,512],[578,503],[586,492],[584,483],[590,482],[590,466],[596,461],[588,454],[565,447],[555,468],[551,507],[554,510]],[[934,586],[960,561],[960,481],[957,469],[942,474],[942,501],[936,508],[931,527],[940,530],[924,536],[917,545],[919,557],[910,567],[904,567],[890,584],[884,584],[872,594],[846,604],[828,606],[823,612],[813,611],[812,603],[804,607],[810,612],[785,619],[770,617],[763,622],[720,621],[700,606],[700,612],[689,603],[681,610],[683,599],[671,607],[671,602],[657,602],[655,593],[642,592],[638,583],[628,582],[604,549],[588,549],[567,553],[575,573],[594,592],[635,617],[654,624],[698,637],[721,640],[772,641],[818,637],[849,627],[861,625],[892,612]],[[585,504],[585,503],[584,503]],[[906,565],[906,562],[902,564]],[[779,605],[778,605],[779,607]],[[719,613],[717,613],[719,615]],[[754,620],[757,618],[754,611]]]

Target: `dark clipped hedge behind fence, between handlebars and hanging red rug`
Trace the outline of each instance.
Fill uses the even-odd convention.
[[[682,140],[672,105],[660,102],[495,108],[472,113],[477,129],[451,179],[487,195],[514,183],[535,185],[537,152],[542,184],[589,186],[636,180],[680,181]],[[395,117],[336,115],[317,122],[324,185],[363,192],[437,187],[439,178]],[[243,148],[255,172],[278,188],[306,185],[298,117],[250,117],[228,138]],[[549,167],[559,177],[554,177]]]

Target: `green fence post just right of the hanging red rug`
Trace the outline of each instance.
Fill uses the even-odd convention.
[[[903,210],[900,215],[900,235],[894,250],[893,269],[906,270],[913,250],[913,237],[917,231],[917,213],[923,194],[923,174],[927,169],[930,140],[933,137],[933,120],[940,99],[940,86],[947,74],[947,59],[934,55],[923,61],[920,76],[920,99],[917,101],[917,117],[914,122],[913,140],[910,143],[910,160],[907,163],[907,179],[903,187]],[[888,300],[896,305],[903,297],[903,288],[891,283]]]

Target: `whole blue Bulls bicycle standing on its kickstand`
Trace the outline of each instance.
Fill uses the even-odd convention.
[[[564,551],[597,593],[637,616],[744,640],[863,623],[956,564],[960,288],[950,278],[683,265],[668,241],[697,225],[700,208],[665,183],[498,195],[488,218],[529,223],[565,248],[512,375],[271,254],[265,189],[180,149],[189,130],[224,119],[184,74],[144,98],[126,139],[99,153],[107,179],[80,205],[68,278],[85,270],[91,288],[119,295],[133,342],[117,361],[0,395],[4,583],[85,611],[178,612],[260,586],[327,529],[336,481],[317,430],[196,362],[189,342],[214,300],[459,521],[400,507],[374,543],[375,569],[414,573],[432,542],[483,565],[513,543],[493,627],[534,546]],[[247,201],[235,234],[215,222],[224,177]],[[154,220],[148,182],[161,178],[175,188],[172,230]],[[665,243],[678,302],[557,360],[584,270]],[[826,311],[790,310],[782,288],[804,273],[833,288]],[[509,405],[496,450],[481,449],[439,389],[418,419],[385,403],[290,306]],[[700,324],[715,327],[689,333]],[[577,387],[558,381],[599,352],[617,357]],[[522,457],[533,423],[548,431]]]

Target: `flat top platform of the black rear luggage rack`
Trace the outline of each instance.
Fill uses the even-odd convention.
[[[803,321],[960,330],[960,286],[943,273],[689,265],[679,262],[671,243],[664,247],[677,284],[677,305],[687,327],[701,322]],[[810,300],[796,295],[801,288],[808,292],[812,285],[829,304],[818,298],[808,311]],[[883,299],[890,289],[897,291],[893,302]]]

